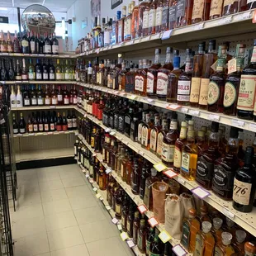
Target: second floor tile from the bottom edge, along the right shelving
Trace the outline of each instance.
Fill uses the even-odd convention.
[[[116,236],[116,232],[111,229],[111,225],[107,220],[99,220],[96,222],[79,225],[79,227],[85,243]]]

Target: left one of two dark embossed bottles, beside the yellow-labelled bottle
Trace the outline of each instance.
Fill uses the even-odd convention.
[[[211,189],[214,174],[214,163],[219,157],[218,147],[220,142],[219,123],[211,123],[211,134],[209,135],[208,149],[201,154],[197,160],[196,181],[202,187]]]

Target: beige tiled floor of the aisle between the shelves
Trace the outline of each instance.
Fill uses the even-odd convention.
[[[133,255],[77,164],[17,172],[15,256]]]

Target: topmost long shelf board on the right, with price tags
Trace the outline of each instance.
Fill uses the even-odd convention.
[[[134,50],[145,50],[163,45],[177,44],[179,48],[186,48],[181,44],[193,40],[206,40],[219,38],[221,36],[235,36],[239,34],[247,34],[255,31],[252,23],[254,10],[235,13],[226,17],[220,17],[210,21],[203,21],[190,26],[183,26],[151,36],[144,36],[139,39],[122,42],[118,45],[109,45],[107,47],[89,50],[78,55],[78,57],[104,56],[108,54],[124,53]],[[167,36],[166,40],[164,37]]]

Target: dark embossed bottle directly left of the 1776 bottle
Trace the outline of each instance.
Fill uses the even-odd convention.
[[[239,168],[237,158],[239,148],[238,129],[231,127],[225,157],[216,160],[212,179],[212,191],[225,200],[231,200],[235,171]]]

